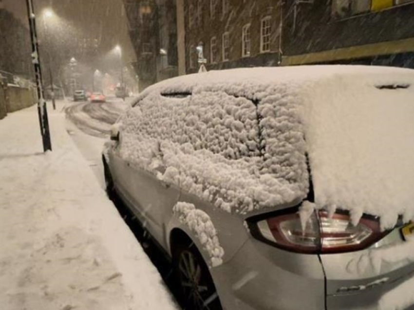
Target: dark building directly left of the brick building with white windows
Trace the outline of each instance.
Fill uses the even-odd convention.
[[[140,90],[178,75],[174,0],[124,0]]]

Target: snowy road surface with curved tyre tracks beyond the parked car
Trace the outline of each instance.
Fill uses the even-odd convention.
[[[73,102],[65,108],[66,117],[85,134],[104,138],[118,116],[130,106],[131,100],[108,98],[107,102]]]

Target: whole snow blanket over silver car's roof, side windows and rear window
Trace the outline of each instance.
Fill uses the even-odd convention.
[[[397,84],[411,86],[379,89]],[[192,96],[167,103],[159,95],[180,92]],[[121,152],[144,169],[165,165],[160,178],[237,213],[304,199],[307,152],[317,208],[350,210],[354,223],[363,213],[378,215],[383,229],[392,228],[398,215],[414,217],[413,92],[412,71],[389,67],[252,68],[173,78],[144,91],[124,117]],[[179,119],[186,126],[179,128]]]

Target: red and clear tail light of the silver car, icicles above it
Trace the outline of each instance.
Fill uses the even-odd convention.
[[[293,252],[339,253],[362,250],[376,243],[388,232],[382,232],[378,219],[364,216],[358,225],[347,213],[328,215],[316,210],[305,225],[298,212],[282,214],[257,222],[262,238]]]

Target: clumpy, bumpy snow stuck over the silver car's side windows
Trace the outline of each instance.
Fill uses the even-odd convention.
[[[284,91],[259,107],[224,92],[151,94],[121,120],[121,156],[227,212],[304,197],[308,174],[297,99]],[[163,175],[155,170],[159,165]]]

